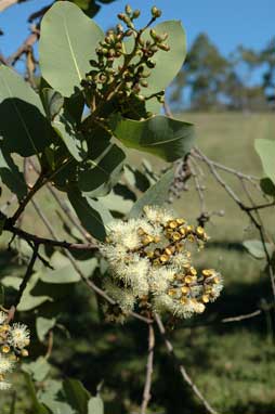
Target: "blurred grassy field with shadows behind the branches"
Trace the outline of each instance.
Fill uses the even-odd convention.
[[[181,116],[182,117],[182,116]],[[185,114],[184,120],[197,127],[197,144],[212,159],[246,173],[262,174],[261,164],[253,151],[258,138],[275,138],[275,118],[272,114]],[[132,152],[130,159],[139,163],[140,155]],[[162,165],[150,158],[156,168]],[[221,270],[225,288],[221,298],[198,319],[182,323],[171,338],[178,355],[182,358],[198,387],[211,404],[223,414],[274,414],[275,413],[275,347],[274,320],[270,311],[249,321],[227,324],[210,324],[225,316],[249,313],[271,300],[271,286],[264,272],[264,263],[252,259],[241,243],[257,237],[246,215],[219,187],[204,167],[206,203],[209,211],[224,210],[224,217],[213,217],[208,224],[211,236],[209,247],[198,257],[199,266]],[[247,203],[238,180],[222,174]],[[253,195],[256,193],[252,191]],[[51,197],[39,194],[48,217],[54,210]],[[199,216],[199,202],[194,183],[174,203],[175,209],[192,222]],[[34,220],[30,208],[24,218],[24,228],[47,234]],[[275,238],[274,211],[265,211],[263,218]],[[2,241],[3,242],[3,241]],[[0,275],[17,271],[9,267],[10,258],[1,254]],[[75,292],[76,290],[76,292]],[[86,297],[81,287],[74,289],[74,298]],[[71,300],[77,300],[77,299]],[[86,302],[84,300],[82,302]],[[87,302],[89,302],[87,298]],[[90,302],[89,302],[90,303]],[[68,309],[74,301],[67,306]],[[89,313],[93,303],[83,306],[83,318],[78,321],[73,338],[60,346],[53,354],[53,363],[66,374],[82,379],[90,389],[105,379],[105,400],[116,399],[116,413],[133,413],[139,406],[142,375],[146,362],[146,332],[130,323],[120,327],[100,327],[95,316]],[[75,322],[76,322],[75,321]],[[74,325],[71,321],[65,321]],[[196,324],[196,327],[189,327]],[[209,326],[199,326],[209,324]],[[89,326],[89,329],[87,329]],[[74,326],[73,326],[74,327]],[[56,339],[58,344],[58,336]],[[92,344],[92,345],[91,345]],[[66,347],[66,352],[63,347]],[[68,367],[69,365],[69,367]],[[84,370],[83,370],[84,366]],[[90,373],[93,372],[91,378]],[[112,397],[113,396],[113,397]],[[0,396],[1,402],[1,396]],[[3,406],[3,405],[2,405]],[[21,406],[21,405],[18,405]],[[135,410],[136,412],[136,410]],[[2,411],[0,409],[0,413]],[[3,411],[9,413],[9,411]],[[16,411],[17,413],[17,411]],[[25,414],[22,410],[21,414]],[[106,414],[116,414],[108,412]],[[182,386],[165,349],[157,347],[149,413],[202,414],[201,405],[186,386]]]

